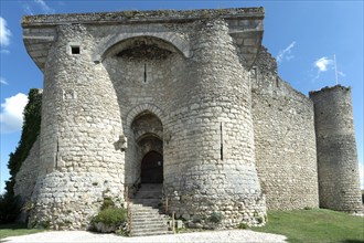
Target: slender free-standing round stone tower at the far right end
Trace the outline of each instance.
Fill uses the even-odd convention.
[[[311,92],[318,150],[320,207],[361,210],[351,89],[336,85]]]

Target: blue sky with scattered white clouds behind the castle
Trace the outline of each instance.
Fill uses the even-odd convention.
[[[295,88],[308,95],[309,91],[335,85],[335,54],[339,83],[352,87],[363,175],[363,1],[1,0],[0,7],[0,193],[9,178],[9,154],[20,138],[26,94],[32,87],[41,88],[43,82],[24,49],[21,18],[46,13],[265,7],[263,43],[277,57],[280,77]]]

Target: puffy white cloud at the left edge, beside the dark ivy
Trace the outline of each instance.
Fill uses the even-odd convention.
[[[21,130],[23,126],[23,110],[26,103],[28,96],[22,93],[6,98],[6,102],[1,104],[1,134]]]

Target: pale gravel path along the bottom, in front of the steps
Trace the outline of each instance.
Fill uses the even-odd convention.
[[[142,237],[122,237],[114,234],[96,234],[86,231],[50,231],[29,234],[24,236],[7,237],[6,243],[23,242],[195,242],[195,243],[222,243],[222,242],[286,242],[286,236],[278,234],[259,233],[250,230],[208,231],[182,234],[154,235]]]

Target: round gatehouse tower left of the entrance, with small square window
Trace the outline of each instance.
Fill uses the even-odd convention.
[[[122,135],[115,89],[88,50],[84,25],[56,27],[45,63],[40,170],[30,225],[86,229],[105,196],[124,201]],[[79,54],[72,54],[72,45]]]

